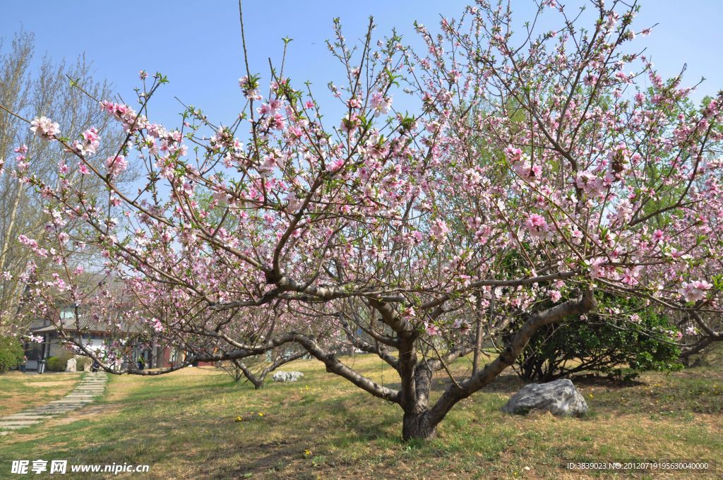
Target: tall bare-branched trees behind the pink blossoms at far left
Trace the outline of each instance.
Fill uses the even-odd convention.
[[[54,186],[59,185],[61,165],[65,165],[63,170],[68,169],[68,181],[79,183],[80,174],[71,153],[48,148],[47,142],[9,111],[30,118],[52,113],[56,121],[72,129],[94,128],[104,140],[95,155],[103,159],[121,142],[122,130],[103,115],[97,100],[111,95],[111,85],[93,79],[91,64],[84,56],[72,62],[53,61],[47,56],[35,59],[33,34],[22,31],[0,39],[0,55],[0,104],[7,108],[0,110],[0,160],[7,171],[0,177],[0,333],[22,333],[22,319],[27,320],[21,314],[27,275],[42,276],[53,266],[48,257],[28,255],[18,241],[20,236],[42,238],[48,213],[40,199],[12,176],[12,171],[27,169]],[[75,85],[82,85],[83,90]],[[31,160],[25,148],[33,151]],[[90,151],[87,153],[92,156]],[[124,176],[124,181],[129,180],[130,172]],[[100,182],[84,179],[84,188],[97,191]],[[88,258],[77,256],[76,261]]]

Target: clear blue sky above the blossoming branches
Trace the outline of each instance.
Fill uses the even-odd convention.
[[[364,33],[367,17],[374,15],[377,35],[391,27],[416,40],[414,20],[436,27],[440,14],[458,17],[469,1],[244,1],[247,42],[252,70],[268,80],[268,57],[279,59],[281,38],[294,38],[286,71],[299,85],[310,80],[325,91],[329,80],[341,78],[324,40],[332,35],[332,18],[341,17],[346,38]],[[579,1],[565,1],[568,7]],[[695,95],[723,88],[723,1],[642,0],[636,25],[659,26],[636,45],[648,54],[664,77],[688,64],[686,84],[705,76]],[[521,23],[531,18],[531,1],[513,0]],[[153,102],[151,119],[173,126],[181,111],[174,96],[203,108],[210,119],[228,124],[242,104],[237,80],[244,74],[238,3],[225,1],[0,1],[0,35],[20,27],[36,35],[37,56],[74,59],[85,52],[95,75],[113,82],[124,99],[132,100],[139,85],[137,72],[163,72],[171,81]],[[434,30],[433,30],[434,31]],[[262,83],[262,85],[264,85]],[[131,103],[131,102],[129,102]],[[133,102],[134,103],[134,102]]]

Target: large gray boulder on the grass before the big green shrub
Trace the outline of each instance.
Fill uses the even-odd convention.
[[[581,416],[587,413],[588,408],[573,382],[562,379],[525,385],[502,407],[504,412],[521,415],[531,410],[547,410],[556,416]]]

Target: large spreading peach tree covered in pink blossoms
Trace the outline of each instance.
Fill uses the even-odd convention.
[[[522,26],[479,1],[437,33],[416,25],[422,50],[395,35],[373,42],[371,22],[354,48],[335,22],[336,121],[283,64],[265,82],[247,67],[230,123],[189,107],[176,128],[147,117],[166,79],[142,72],[137,110],[101,103],[127,132],[105,168],[87,159],[88,132],[71,140],[33,121],[107,187],[100,202],[62,174],[48,185],[32,169],[12,173],[53,214],[62,272],[33,285],[38,299],[87,301],[65,252],[92,247],[102,272],[142,299],[138,322],[182,345],[187,362],[296,344],[398,404],[404,439],[434,435],[539,327],[596,312],[596,291],[717,314],[720,281],[700,266],[720,260],[723,98],[683,108],[681,77],[663,80],[630,53],[649,33],[633,28],[636,7],[589,6],[570,14],[544,1]],[[558,29],[535,30],[538,17]],[[147,172],[134,192],[116,184],[130,164]],[[69,236],[77,219],[85,228]],[[174,314],[153,313],[169,304]],[[380,356],[395,387],[339,358],[342,338]],[[455,363],[479,360],[483,342],[497,350],[486,364]]]

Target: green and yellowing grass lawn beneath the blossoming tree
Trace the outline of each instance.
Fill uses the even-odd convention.
[[[390,367],[371,356],[346,361],[377,382],[396,380]],[[37,458],[150,465],[150,473],[114,476],[129,479],[628,478],[568,471],[565,464],[652,460],[707,461],[711,467],[636,478],[723,475],[719,369],[643,374],[639,384],[628,386],[576,380],[591,408],[583,419],[501,413],[524,385],[505,375],[458,404],[435,440],[411,443],[400,440],[398,406],[328,374],[317,361],[284,369],[305,376],[263,390],[236,385],[210,368],[111,377],[106,396],[93,406],[0,437],[0,478],[12,478],[11,460]],[[16,377],[0,379],[12,383]]]

